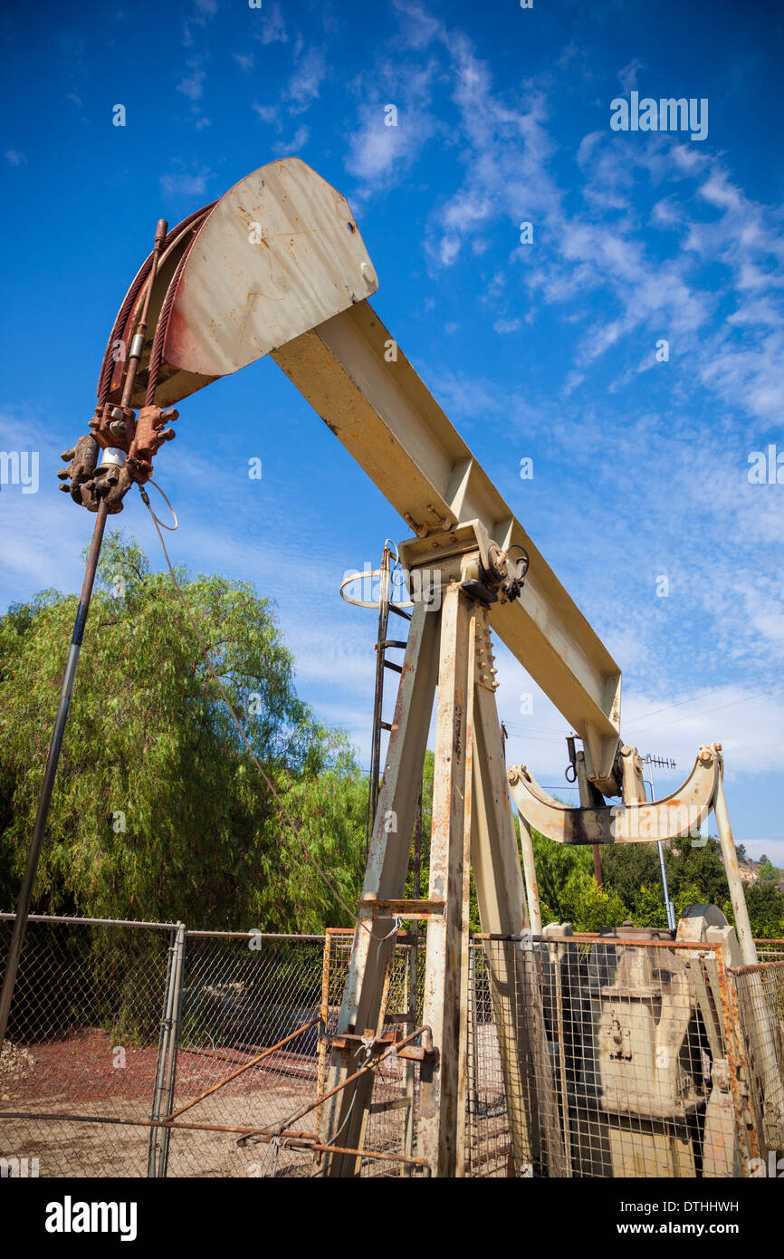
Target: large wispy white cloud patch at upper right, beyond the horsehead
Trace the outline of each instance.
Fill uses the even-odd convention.
[[[780,212],[750,201],[721,162],[697,152],[693,145],[668,135],[653,135],[642,144],[636,136],[632,142],[608,128],[588,132],[578,147],[584,208],[566,213],[565,193],[550,170],[556,149],[549,133],[545,92],[526,84],[518,101],[508,92],[500,96],[488,65],[477,58],[462,31],[418,5],[398,4],[396,9],[404,52],[393,65],[374,65],[380,88],[362,81],[371,101],[362,106],[360,130],[346,159],[349,171],[364,181],[360,196],[410,172],[427,137],[448,135],[462,147],[464,175],[430,213],[425,232],[430,261],[453,267],[467,248],[483,253],[488,243],[497,247],[500,233],[508,233],[510,261],[525,266],[530,295],[547,303],[570,302],[574,310],[569,317],[583,321],[584,334],[565,373],[566,395],[584,381],[585,369],[605,359],[610,349],[615,363],[632,354],[630,364],[620,368],[610,387],[618,392],[653,365],[656,341],[664,337],[671,342],[672,360],[691,359],[702,384],[722,400],[773,422],[780,413],[784,388],[778,339],[783,320],[771,301],[784,283],[779,273],[784,259]],[[403,68],[405,82],[412,81],[412,65],[405,60],[412,50],[428,58],[427,91],[415,101],[420,117],[406,130],[385,128],[383,103],[395,99],[394,69],[400,68],[399,82]],[[424,63],[417,64],[423,73]],[[619,77],[625,91],[642,68],[638,59],[623,68]],[[452,82],[457,131],[432,113],[429,79],[443,79],[444,73]],[[405,99],[410,107],[412,93],[406,92]],[[649,224],[662,235],[641,230],[641,180],[654,188],[667,181],[676,189],[654,201],[649,212]],[[682,196],[678,185],[683,185]],[[707,218],[698,213],[700,203]],[[535,253],[517,244],[517,224],[524,220],[535,224]],[[717,291],[715,277],[698,273],[696,256],[705,266],[719,258],[732,272],[739,302],[724,326],[715,321],[724,292]],[[598,320],[591,306],[603,302],[607,308],[608,296],[613,316]],[[493,297],[491,286],[487,297]],[[729,340],[759,324],[771,330],[761,344]],[[641,354],[641,336],[651,353]]]

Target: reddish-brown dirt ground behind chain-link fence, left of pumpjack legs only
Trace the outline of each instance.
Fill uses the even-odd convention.
[[[237,1050],[181,1050],[175,1108],[198,1097],[252,1059]],[[302,1060],[298,1060],[298,1059]],[[115,1123],[38,1119],[34,1113],[97,1118],[150,1118],[157,1051],[126,1049],[121,1064],[106,1034],[88,1031],[69,1040],[15,1046],[0,1071],[0,1157],[38,1158],[39,1176],[146,1176],[150,1128]],[[316,1064],[305,1055],[278,1055],[276,1069],[252,1068],[199,1102],[182,1122],[267,1127],[286,1119],[315,1097]],[[313,1131],[312,1114],[296,1126]],[[249,1144],[238,1133],[175,1129],[170,1176],[307,1175],[307,1151]],[[277,1161],[276,1161],[277,1155]]]

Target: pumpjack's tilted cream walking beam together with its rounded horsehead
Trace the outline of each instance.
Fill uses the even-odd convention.
[[[620,670],[369,306],[376,287],[346,200],[297,157],[262,166],[167,247],[151,303],[161,312],[156,399],[171,405],[271,354],[418,536],[440,533],[448,545],[473,522],[484,565],[525,550],[525,587],[493,603],[491,626],[612,794]],[[131,305],[120,340],[135,313]],[[131,405],[145,400],[152,351]]]

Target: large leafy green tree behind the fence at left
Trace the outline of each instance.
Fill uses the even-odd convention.
[[[268,599],[247,583],[177,575],[274,791],[242,743],[170,575],[112,534],[33,908],[190,927],[345,924],[340,901],[351,904],[361,885],[366,791],[346,737],[297,697]],[[74,597],[49,590],[0,618],[4,908],[14,908],[21,879],[74,611]]]

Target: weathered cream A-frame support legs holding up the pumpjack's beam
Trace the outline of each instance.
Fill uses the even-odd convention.
[[[438,569],[439,608],[414,607],[406,656],[390,735],[386,772],[370,840],[370,852],[349,974],[332,1041],[330,1090],[321,1112],[323,1144],[361,1149],[370,1105],[369,1081],[347,1080],[361,1061],[361,1034],[369,1040],[384,1024],[389,966],[400,922],[427,919],[424,1010],[433,1053],[420,1066],[418,1149],[433,1176],[463,1176],[467,1092],[468,893],[473,864],[482,927],[515,934],[527,927],[526,893],[506,781],[503,742],[495,701],[490,618],[464,588],[481,563],[476,538],[456,546]],[[427,900],[404,900],[412,849],[414,801],[422,774],[434,692],[435,774]],[[393,825],[390,826],[390,820]],[[503,1024],[503,1071],[515,1148],[530,1139],[526,1097],[549,1071],[541,1011],[532,1027],[516,1017],[518,986],[506,961],[495,974],[495,1017]],[[529,1039],[530,1037],[530,1039]],[[525,1076],[525,1079],[524,1079]],[[342,1085],[342,1087],[341,1087]],[[545,1124],[557,1122],[552,1092],[541,1089]],[[554,1175],[561,1160],[549,1141]],[[354,1176],[357,1155],[332,1155],[320,1176]]]

